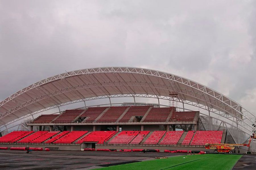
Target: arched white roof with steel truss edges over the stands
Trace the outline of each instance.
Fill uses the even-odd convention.
[[[177,93],[175,97],[170,94]],[[256,115],[225,95],[181,76],[135,67],[99,67],[48,77],[0,102],[0,127],[48,109],[99,98],[171,99],[207,110],[255,131]]]

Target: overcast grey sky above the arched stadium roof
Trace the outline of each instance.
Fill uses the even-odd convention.
[[[0,0],[0,100],[38,80],[144,67],[256,109],[256,1]]]

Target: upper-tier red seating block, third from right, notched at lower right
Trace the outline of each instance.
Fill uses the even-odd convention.
[[[144,116],[150,106],[132,106],[119,122],[128,122],[132,116]]]

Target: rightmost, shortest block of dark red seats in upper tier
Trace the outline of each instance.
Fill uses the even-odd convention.
[[[170,121],[184,122],[193,121],[196,112],[173,112]]]

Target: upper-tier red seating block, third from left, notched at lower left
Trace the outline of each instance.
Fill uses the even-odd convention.
[[[83,122],[93,122],[107,107],[88,107],[79,117],[88,117]]]

